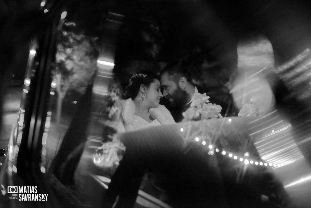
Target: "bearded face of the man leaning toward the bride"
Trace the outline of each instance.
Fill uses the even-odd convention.
[[[161,76],[161,88],[163,89],[163,96],[168,99],[173,107],[178,107],[186,104],[188,94],[185,90],[181,89],[179,84],[173,80],[169,80],[169,75],[164,73]]]

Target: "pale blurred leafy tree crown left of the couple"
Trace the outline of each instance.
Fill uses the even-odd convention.
[[[62,31],[56,52],[58,92],[75,89],[83,93],[96,70],[97,56],[91,37]]]

